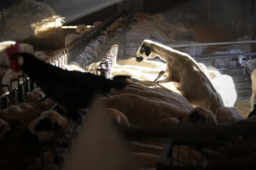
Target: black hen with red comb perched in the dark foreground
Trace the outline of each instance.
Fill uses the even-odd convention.
[[[22,53],[19,43],[5,52],[9,55],[13,71],[23,71],[49,98],[66,107],[67,116],[73,119],[78,116],[79,109],[90,106],[96,94],[106,95],[112,88],[125,88],[125,80],[128,78],[117,76],[110,80],[90,73],[62,70],[32,54]]]

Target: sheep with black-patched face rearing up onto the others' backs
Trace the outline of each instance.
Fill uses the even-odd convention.
[[[212,82],[189,54],[184,54],[158,42],[144,40],[137,49],[137,62],[155,56],[164,59],[167,66],[166,71],[160,71],[154,82],[177,82],[177,88],[192,105],[205,107],[213,113],[219,107],[224,106]],[[166,79],[158,81],[165,72],[168,73]]]

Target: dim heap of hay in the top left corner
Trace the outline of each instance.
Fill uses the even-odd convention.
[[[55,11],[46,4],[34,0],[22,0],[10,8],[9,14],[2,20],[0,41],[20,41],[34,35],[32,24],[55,15]]]

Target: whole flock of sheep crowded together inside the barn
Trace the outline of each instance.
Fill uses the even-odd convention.
[[[190,56],[200,55],[206,51],[206,48],[183,48],[177,51],[168,47],[169,44],[178,42],[193,42],[195,37],[193,30],[185,28],[183,24],[168,23],[162,14],[137,13],[131,19],[128,31],[124,26],[127,20],[125,17],[116,20],[106,31],[102,31],[100,36],[90,41],[84,47],[84,52],[77,56],[71,65],[64,65],[67,70],[96,73],[100,63],[105,60],[111,69],[109,77],[116,75],[132,77],[131,84],[127,88],[101,99],[106,106],[105,112],[121,129],[162,130],[177,126],[186,127],[189,124],[192,127],[218,126],[221,123],[245,119],[234,109],[237,96],[232,77],[222,75],[213,67],[225,66],[225,60],[213,60],[212,66],[209,67],[206,66],[207,63],[198,63]],[[101,23],[101,21],[95,22],[93,27]],[[77,26],[76,34],[68,35],[65,45],[93,27]],[[120,41],[121,38],[124,40]],[[123,45],[120,45],[120,42],[123,42]],[[9,61],[4,54],[4,48],[13,43],[0,44],[2,50],[0,64],[7,69]],[[22,48],[40,59],[49,59],[49,56],[43,52],[34,53],[30,44],[23,44]],[[240,50],[250,49],[243,47]],[[150,60],[155,56],[160,59]],[[250,68],[252,85],[256,87],[254,62],[254,60],[242,61],[241,65],[246,67],[247,71]],[[19,76],[7,69],[4,71],[5,74],[2,74],[3,84],[9,84],[11,78]],[[224,85],[221,85],[220,82],[223,81]],[[224,88],[227,86],[228,89]],[[256,89],[253,88],[252,105],[255,94]],[[17,133],[25,133],[28,128],[42,144],[53,139],[56,132],[65,131],[68,120],[57,111],[49,111],[55,102],[44,97],[44,93],[36,88],[27,94],[27,103],[11,105],[0,111],[0,138],[4,141],[9,133],[15,136]],[[198,116],[202,118],[198,119]],[[195,117],[194,121],[191,121],[192,117]],[[50,128],[40,126],[44,124],[43,122],[47,122]],[[164,140],[153,139],[145,142],[131,139],[126,143],[131,145],[131,148],[137,148],[129,151],[132,156],[140,160],[140,166],[145,168],[155,167]]]

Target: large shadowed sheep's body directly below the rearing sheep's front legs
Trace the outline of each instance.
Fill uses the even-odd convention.
[[[145,97],[136,94],[139,92]],[[178,123],[177,118],[188,114],[192,109],[192,106],[188,105],[186,99],[183,99],[182,96],[175,95],[174,97],[167,95],[172,99],[166,102],[164,99],[157,97],[160,95],[162,98],[165,98],[165,95],[158,94],[157,92],[149,92],[147,94],[147,91],[135,90],[132,93],[117,94],[112,97],[103,98],[102,101],[106,107],[114,108],[124,113],[129,122],[137,127],[156,129],[175,127]],[[146,96],[151,96],[151,98]]]

